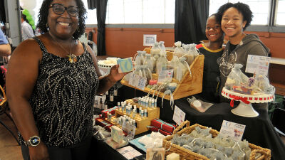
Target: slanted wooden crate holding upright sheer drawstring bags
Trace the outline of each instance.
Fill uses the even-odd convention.
[[[204,55],[198,55],[193,61],[193,63],[190,65],[192,75],[190,75],[189,71],[187,71],[181,82],[179,82],[175,78],[172,78],[172,82],[176,82],[178,84],[175,91],[172,93],[174,100],[202,92],[203,69]],[[152,78],[157,80],[157,74],[152,74]],[[132,85],[129,85],[128,82],[126,82],[124,79],[121,80],[121,83],[128,87],[133,87]],[[150,92],[150,94],[153,94],[155,92],[155,90],[150,90],[147,87],[145,87],[145,89],[142,91]],[[157,92],[155,92],[155,94],[157,94]],[[163,95],[164,94],[160,92],[158,96],[163,97]],[[165,95],[164,98],[170,100],[170,95]]]

